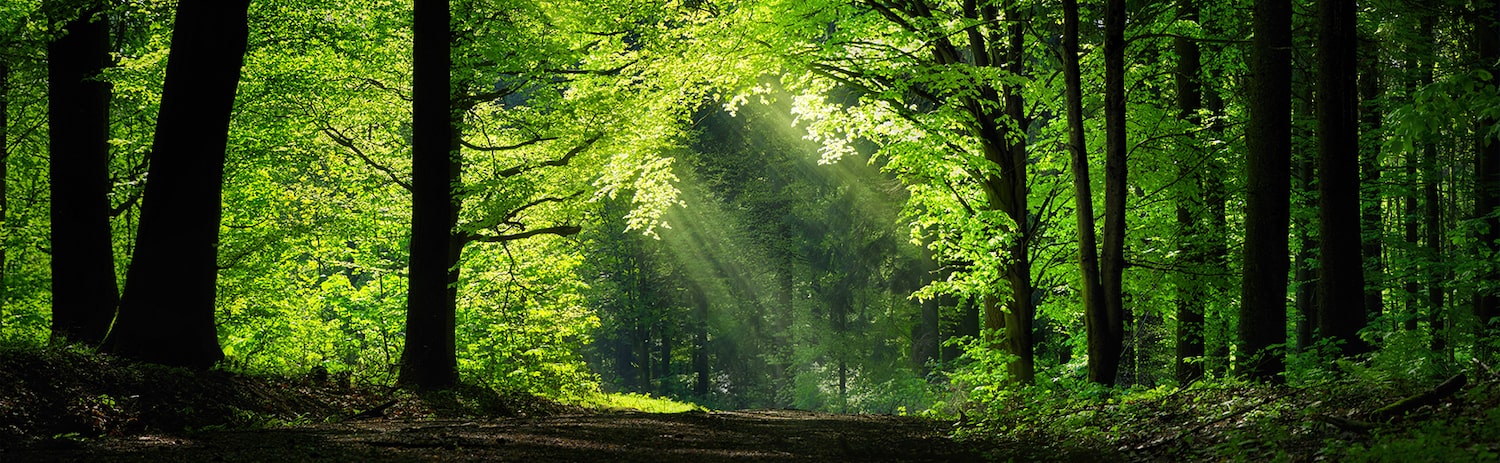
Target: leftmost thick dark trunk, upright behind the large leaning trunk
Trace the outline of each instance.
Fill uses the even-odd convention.
[[[110,231],[110,19],[98,6],[46,46],[52,159],[52,336],[98,345],[118,288]],[[222,150],[220,150],[222,151]]]

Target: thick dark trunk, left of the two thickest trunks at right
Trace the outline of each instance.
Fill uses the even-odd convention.
[[[1245,270],[1240,285],[1242,372],[1282,382],[1287,342],[1287,225],[1292,157],[1292,3],[1256,0],[1251,39]]]

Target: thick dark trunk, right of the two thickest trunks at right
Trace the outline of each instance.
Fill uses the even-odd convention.
[[[1318,1],[1318,336],[1366,349],[1359,217],[1359,99],[1353,0]]]

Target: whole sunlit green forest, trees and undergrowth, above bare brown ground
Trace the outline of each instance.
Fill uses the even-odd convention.
[[[0,357],[1497,459],[1497,76],[1494,0],[8,0]]]

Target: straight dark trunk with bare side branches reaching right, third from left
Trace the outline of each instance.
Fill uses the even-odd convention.
[[[452,265],[458,217],[452,187],[458,151],[453,145],[448,18],[447,0],[414,3],[411,264],[399,382],[418,390],[450,388],[458,381],[452,292],[458,288],[448,286],[458,271]]]

